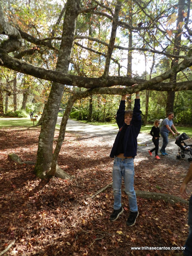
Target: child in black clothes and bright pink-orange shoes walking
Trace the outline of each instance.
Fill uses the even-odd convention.
[[[152,152],[155,151],[155,158],[156,159],[160,159],[160,157],[158,156],[159,137],[160,137],[159,136],[159,132],[160,132],[159,124],[160,124],[160,121],[158,119],[156,119],[155,122],[154,122],[154,126],[152,127],[152,129],[150,131],[151,136],[153,136],[152,142],[154,143],[155,148],[148,151],[150,156],[152,156]]]

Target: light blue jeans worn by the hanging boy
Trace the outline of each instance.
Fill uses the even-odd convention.
[[[137,212],[137,199],[134,190],[134,159],[122,159],[115,156],[113,166],[114,210],[118,210],[121,208],[122,177],[125,183],[125,192],[129,198],[130,211]]]

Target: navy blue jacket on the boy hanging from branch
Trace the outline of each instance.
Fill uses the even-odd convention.
[[[124,122],[125,116],[125,100],[121,100],[119,109],[117,111],[116,122],[119,127],[119,132],[116,136],[115,142],[113,144],[110,157],[114,158],[116,155],[116,150],[118,146],[118,141],[120,137],[120,132],[122,126],[125,126],[126,123]],[[135,105],[133,109],[133,117],[130,122],[130,125],[126,129],[126,133],[124,135],[124,156],[136,156],[137,154],[137,136],[140,132],[141,128],[141,111],[140,111],[140,99],[135,99]]]

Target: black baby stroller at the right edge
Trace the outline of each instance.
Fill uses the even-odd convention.
[[[189,137],[187,136],[187,134],[185,132],[183,132],[182,134],[180,134],[179,136],[176,137],[176,142],[175,144],[177,144],[179,146],[178,148],[178,154],[176,156],[177,159],[180,158],[184,158],[186,155],[189,156],[189,158],[187,159],[189,162],[192,161],[192,144],[187,145],[184,140],[189,139]]]

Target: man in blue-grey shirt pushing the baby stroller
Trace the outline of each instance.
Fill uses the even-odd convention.
[[[165,151],[165,148],[168,144],[168,136],[169,136],[169,132],[171,132],[173,134],[173,136],[175,135],[175,133],[172,131],[172,129],[176,132],[176,134],[179,134],[179,132],[176,130],[174,124],[173,124],[173,118],[174,118],[174,114],[173,113],[169,113],[168,114],[168,118],[165,118],[162,121],[161,127],[160,127],[160,134],[163,138],[163,144],[162,147],[160,149],[160,152],[163,156],[167,156],[168,154]]]

